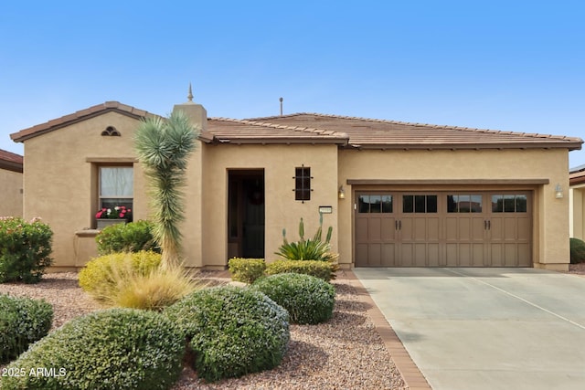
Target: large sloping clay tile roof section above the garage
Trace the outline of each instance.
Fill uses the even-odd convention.
[[[526,132],[501,132],[426,123],[386,121],[318,113],[294,113],[248,121],[345,133],[348,144],[382,149],[581,148],[580,138]]]

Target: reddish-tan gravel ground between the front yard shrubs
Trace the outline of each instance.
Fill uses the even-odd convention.
[[[291,325],[291,343],[282,364],[271,371],[206,384],[185,368],[173,390],[185,389],[406,389],[367,306],[344,279],[334,280],[334,317],[319,325]],[[213,284],[225,273],[206,272]],[[53,305],[53,328],[100,309],[77,284],[76,273],[47,274],[36,285],[0,284],[0,293],[44,298]]]

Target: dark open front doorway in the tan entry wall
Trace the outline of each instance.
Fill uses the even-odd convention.
[[[229,258],[264,258],[264,171],[229,171]]]

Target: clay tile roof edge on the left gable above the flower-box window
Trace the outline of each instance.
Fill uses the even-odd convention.
[[[36,126],[21,130],[20,132],[12,133],[10,134],[10,138],[12,138],[12,140],[15,142],[23,142],[29,138],[36,137],[37,135],[43,134],[45,132],[52,132],[61,127],[69,126],[69,124],[75,123],[77,121],[84,121],[109,111],[120,112],[124,115],[129,115],[134,118],[155,116],[148,111],[136,109],[132,106],[122,104],[119,101],[106,101],[105,103],[92,106],[89,109],[76,111],[72,114],[65,115],[45,123],[37,124]]]

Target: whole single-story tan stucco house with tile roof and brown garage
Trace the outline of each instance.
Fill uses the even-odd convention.
[[[314,113],[207,118],[188,167],[186,266],[276,258],[295,239],[333,227],[351,267],[568,269],[569,151],[580,138]],[[95,254],[95,213],[124,203],[148,217],[133,132],[153,114],[117,101],[11,134],[25,144],[25,217],[55,232],[56,269]],[[117,183],[117,184],[114,184]]]

